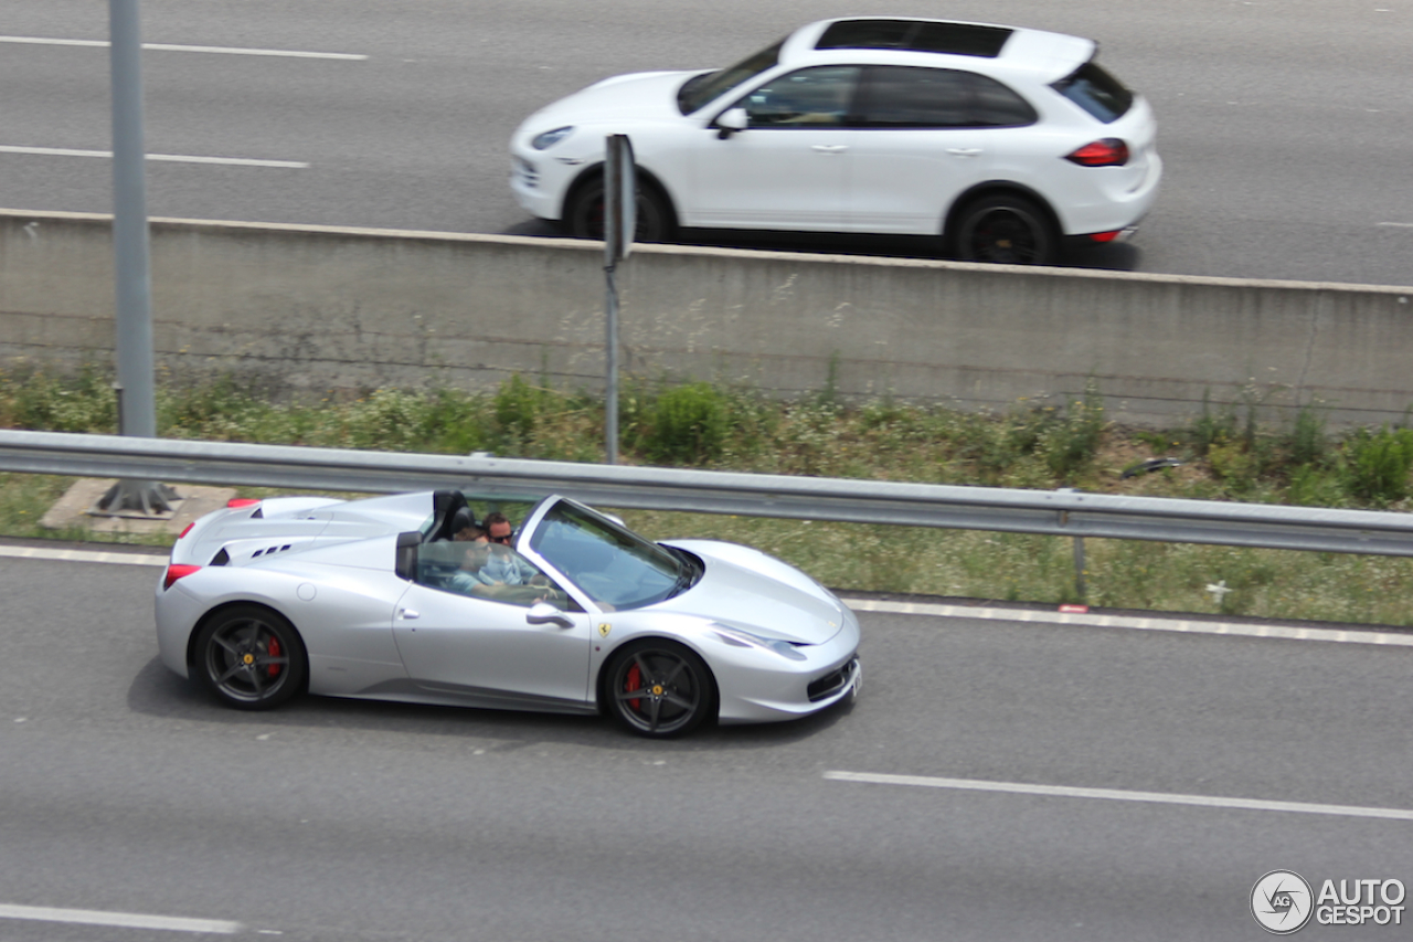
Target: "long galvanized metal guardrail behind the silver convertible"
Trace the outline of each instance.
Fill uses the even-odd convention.
[[[456,457],[0,430],[0,471],[363,494],[461,488],[502,499],[555,492],[606,508],[1413,556],[1413,515],[1407,513],[634,468],[483,454]]]

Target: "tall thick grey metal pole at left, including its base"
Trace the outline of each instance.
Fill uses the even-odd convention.
[[[113,274],[119,431],[157,437],[153,390],[153,297],[147,253],[147,194],[143,182],[143,72],[137,0],[109,0],[109,62],[113,92]],[[95,512],[165,512],[170,488],[120,481]]]

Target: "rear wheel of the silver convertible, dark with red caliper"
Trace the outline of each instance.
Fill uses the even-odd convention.
[[[304,686],[308,662],[294,625],[261,605],[226,608],[196,635],[202,686],[237,710],[268,710]]]

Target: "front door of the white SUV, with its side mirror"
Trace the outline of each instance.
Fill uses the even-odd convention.
[[[848,215],[851,109],[861,69],[829,65],[767,79],[733,107],[745,130],[705,127],[682,223],[842,231]]]

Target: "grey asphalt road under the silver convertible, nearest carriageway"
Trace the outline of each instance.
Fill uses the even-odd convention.
[[[157,662],[157,571],[0,559],[0,939],[194,935],[6,918],[34,907],[301,942],[1210,942],[1266,938],[1270,870],[1413,884],[1410,815],[1266,805],[1413,809],[1409,648],[866,614],[852,710],[654,744],[216,707]]]

